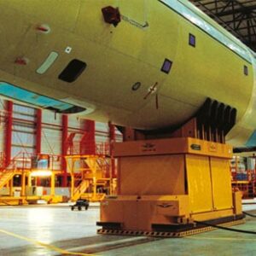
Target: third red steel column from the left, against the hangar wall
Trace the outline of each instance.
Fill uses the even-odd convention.
[[[61,170],[63,172],[61,187],[67,187],[67,163],[64,155],[67,154],[67,133],[68,133],[68,117],[67,114],[62,115],[62,135],[61,135]]]

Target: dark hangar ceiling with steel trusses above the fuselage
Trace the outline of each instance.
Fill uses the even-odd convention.
[[[255,0],[189,0],[256,51]]]

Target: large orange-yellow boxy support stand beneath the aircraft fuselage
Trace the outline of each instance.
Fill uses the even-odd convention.
[[[194,220],[233,224],[243,218],[241,195],[231,190],[230,146],[172,138],[118,143],[114,149],[119,193],[102,201],[101,234],[191,235],[188,230],[200,230]]]

